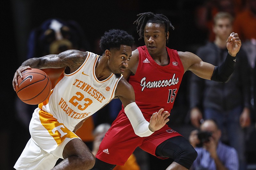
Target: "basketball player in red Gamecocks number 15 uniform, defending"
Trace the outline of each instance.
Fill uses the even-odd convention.
[[[234,71],[236,53],[241,47],[237,33],[231,33],[227,40],[228,55],[218,66],[203,62],[190,52],[176,51],[166,47],[169,28],[168,18],[152,12],[141,13],[134,22],[140,39],[145,46],[132,52],[124,78],[129,80],[135,91],[135,101],[146,120],[159,108],[171,112],[183,74],[190,70],[197,76],[219,82],[227,82]],[[96,155],[93,170],[108,170],[123,165],[135,148],[158,158],[171,158],[173,162],[166,170],[189,169],[197,153],[178,132],[165,125],[149,137],[138,137],[124,114],[124,108],[106,133]],[[108,150],[108,153],[104,152]]]

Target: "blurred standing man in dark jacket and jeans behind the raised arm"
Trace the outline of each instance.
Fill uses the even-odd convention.
[[[213,65],[223,62],[228,53],[226,40],[232,32],[232,22],[233,17],[229,13],[216,14],[213,27],[214,42],[207,43],[197,51],[203,61]],[[248,127],[251,121],[249,68],[246,53],[241,48],[237,53],[235,71],[228,83],[204,80],[192,75],[190,85],[191,123],[198,128],[203,117],[215,119],[225,134],[221,140],[238,152],[240,170],[246,167],[244,128]]]

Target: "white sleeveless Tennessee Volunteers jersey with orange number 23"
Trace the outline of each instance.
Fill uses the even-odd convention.
[[[73,73],[61,74],[50,97],[39,108],[73,130],[77,123],[91,116],[115,97],[119,80],[112,73],[99,81],[95,66],[100,56],[88,52],[84,63]]]

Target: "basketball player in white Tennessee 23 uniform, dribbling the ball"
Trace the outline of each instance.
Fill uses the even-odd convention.
[[[65,70],[50,97],[35,109],[29,125],[31,138],[15,169],[91,169],[95,157],[74,132],[87,117],[114,98],[122,101],[134,132],[140,137],[151,135],[169,121],[170,114],[160,109],[147,122],[134,102],[132,86],[123,78],[133,42],[133,37],[125,31],[110,30],[100,40],[100,47],[105,51],[102,56],[67,50],[22,63],[14,74],[14,90],[18,76],[22,78],[21,72],[27,69],[65,67]],[[64,160],[54,166],[59,158]]]

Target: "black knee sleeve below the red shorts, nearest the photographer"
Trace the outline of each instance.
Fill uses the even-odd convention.
[[[156,148],[156,156],[171,158],[174,162],[190,169],[196,160],[197,152],[182,136],[167,139]]]

